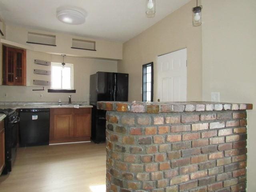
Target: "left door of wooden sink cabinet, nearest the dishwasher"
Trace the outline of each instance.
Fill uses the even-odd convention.
[[[74,136],[73,115],[54,115],[54,139]]]

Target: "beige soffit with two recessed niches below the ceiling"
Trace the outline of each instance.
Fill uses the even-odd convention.
[[[28,32],[55,35],[57,46],[28,44],[26,43],[28,41]],[[72,38],[96,41],[97,51],[72,49]],[[40,30],[31,30],[18,26],[6,26],[6,40],[30,46],[31,50],[34,51],[45,52],[49,54],[66,54],[69,56],[104,58],[112,60],[122,59],[122,43],[118,42],[95,40],[86,37],[72,36],[61,33],[51,33]]]

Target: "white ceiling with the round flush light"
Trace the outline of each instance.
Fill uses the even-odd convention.
[[[89,38],[126,42],[190,0],[156,0],[156,16],[147,18],[146,0],[0,0],[0,16],[7,25]],[[56,18],[60,6],[87,12],[86,22],[69,25]]]

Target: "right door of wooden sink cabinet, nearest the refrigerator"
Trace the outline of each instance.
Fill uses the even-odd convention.
[[[91,114],[75,114],[74,122],[75,137],[91,136]]]

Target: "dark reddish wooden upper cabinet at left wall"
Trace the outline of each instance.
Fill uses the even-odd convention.
[[[26,86],[26,50],[3,46],[3,85]]]

